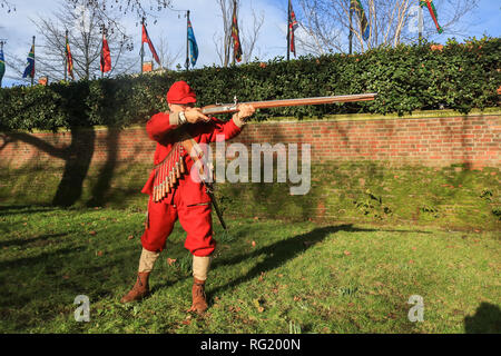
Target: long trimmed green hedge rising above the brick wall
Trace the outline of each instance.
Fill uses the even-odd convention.
[[[432,46],[379,48],[363,55],[302,57],[284,61],[191,71],[169,71],[47,87],[0,90],[0,129],[31,130],[73,126],[128,126],[167,110],[165,95],[176,80],[196,90],[202,106],[215,102],[272,100],[379,92],[374,101],[262,110],[259,119],[330,113],[399,113],[449,108],[499,106],[501,40],[484,38],[443,49]]]

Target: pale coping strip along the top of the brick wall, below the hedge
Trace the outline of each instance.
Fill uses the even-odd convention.
[[[484,110],[473,109],[469,113],[461,113],[454,110],[426,110],[426,111],[414,111],[411,115],[406,113],[399,116],[396,113],[376,115],[376,113],[341,113],[341,115],[326,115],[322,119],[317,117],[308,117],[303,119],[297,119],[295,117],[276,117],[273,120],[265,121],[249,121],[250,125],[274,125],[274,123],[286,123],[286,122],[330,122],[330,121],[372,121],[372,120],[400,120],[400,119],[441,119],[441,118],[458,118],[458,117],[479,117],[479,116],[501,116],[501,108],[485,108]],[[146,122],[145,122],[146,123]],[[144,123],[136,123],[125,127],[125,129],[138,129],[144,128]],[[94,126],[95,131],[108,130],[107,126]],[[82,129],[90,129],[89,127],[84,127]],[[57,132],[69,132],[70,130],[66,128],[59,128]],[[28,134],[55,134],[50,130],[38,130],[32,131],[19,130],[17,132],[28,132]]]

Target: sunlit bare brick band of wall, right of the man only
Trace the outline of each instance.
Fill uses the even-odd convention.
[[[480,116],[254,125],[240,140],[311,144],[313,161],[499,167],[500,134],[500,116]]]

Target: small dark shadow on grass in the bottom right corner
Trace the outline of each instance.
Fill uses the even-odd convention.
[[[501,310],[497,305],[483,301],[473,316],[464,318],[466,334],[500,334]]]

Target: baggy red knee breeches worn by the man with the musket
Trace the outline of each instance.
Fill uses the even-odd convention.
[[[155,202],[150,196],[147,227],[141,236],[143,247],[150,251],[161,251],[174,224],[179,219],[187,233],[185,248],[195,256],[209,256],[216,248],[210,202],[186,206],[178,196],[174,196],[173,204]]]

